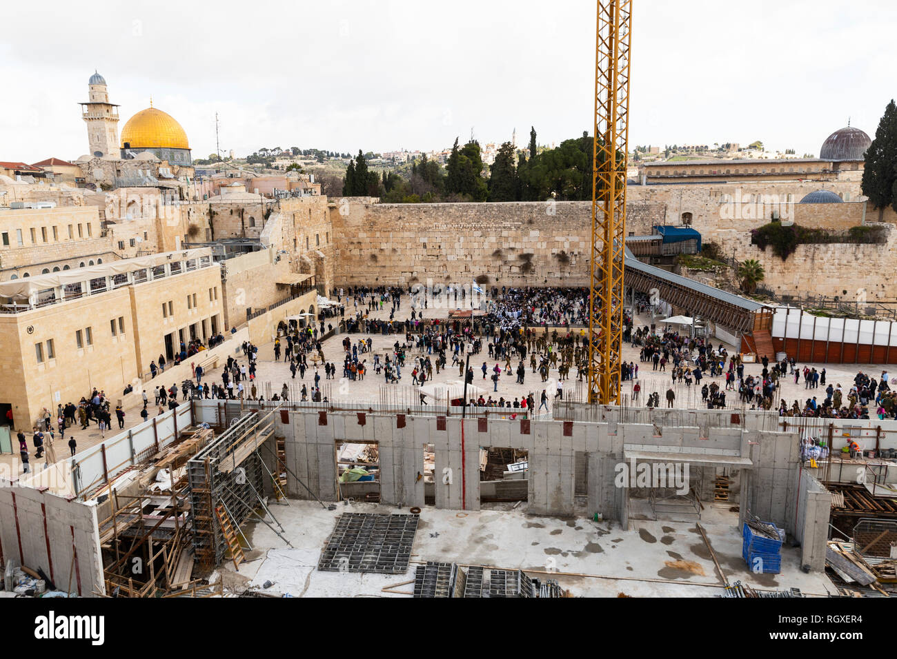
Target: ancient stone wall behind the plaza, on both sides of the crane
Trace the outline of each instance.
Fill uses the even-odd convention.
[[[866,202],[797,204],[810,190],[792,184],[780,190],[782,210],[797,223],[830,230],[877,220]],[[654,187],[663,188],[654,194]],[[781,261],[750,244],[750,230],[767,223],[769,204],[758,207],[757,191],[710,195],[690,186],[633,186],[627,204],[628,235],[646,234],[655,224],[680,224],[690,208],[692,226],[738,260],[756,258],[766,268],[763,286],[779,294],[815,290],[843,296],[867,289],[869,301],[886,299],[893,282],[894,237],[873,245],[803,245]],[[818,184],[812,186],[818,189]],[[649,190],[651,199],[640,199]],[[726,203],[732,195],[731,204]],[[680,203],[680,195],[682,200]],[[788,196],[792,195],[788,204]],[[779,208],[779,206],[777,206]],[[897,222],[894,213],[885,220]],[[782,219],[788,215],[782,214]],[[588,281],[588,202],[507,204],[379,204],[344,199],[330,204],[335,236],[335,282],[339,285],[404,285],[476,281],[481,285],[578,286]],[[890,227],[890,224],[885,226]],[[809,268],[808,269],[808,264]],[[810,287],[809,282],[813,282]]]

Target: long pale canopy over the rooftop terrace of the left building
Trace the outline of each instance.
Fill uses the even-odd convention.
[[[100,277],[111,277],[116,274],[133,273],[144,268],[152,268],[157,265],[189,261],[200,256],[212,256],[209,247],[199,249],[185,249],[179,252],[163,252],[150,256],[138,256],[126,258],[121,261],[89,265],[73,270],[61,270],[57,273],[39,274],[35,277],[23,277],[9,282],[0,282],[0,298],[27,299],[33,293],[40,290],[55,289],[65,284],[87,282]]]

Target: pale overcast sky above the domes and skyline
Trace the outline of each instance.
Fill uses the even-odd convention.
[[[630,144],[737,142],[819,153],[875,136],[897,96],[893,0],[634,0]],[[540,144],[590,130],[595,3],[580,0],[47,0],[4,6],[0,160],[88,151],[97,69],[122,120],[179,120],[221,148],[338,152]]]

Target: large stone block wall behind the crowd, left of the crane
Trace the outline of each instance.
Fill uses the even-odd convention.
[[[631,204],[633,226],[663,223],[662,204]],[[590,202],[376,204],[331,209],[335,279],[346,284],[477,281],[583,285]]]

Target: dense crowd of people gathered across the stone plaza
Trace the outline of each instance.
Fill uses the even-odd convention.
[[[457,377],[468,386],[479,379],[487,388],[491,385],[491,391],[481,393],[482,390],[475,389],[466,402],[453,403],[507,409],[516,416],[549,411],[552,400],[563,399],[563,383],[572,378],[582,380],[588,372],[588,289],[492,289],[492,295],[476,315],[448,319],[425,318],[431,311],[426,308],[425,300],[423,304],[415,301],[411,292],[396,287],[339,290],[339,304],[332,308],[332,317],[339,317],[335,322],[346,331],[341,339],[341,360],[327,361],[322,345],[323,337],[334,330],[333,325],[325,327],[323,320],[320,325],[301,327],[293,320],[281,323],[273,344],[274,361],[288,364],[292,379],[298,377],[301,385],[291,389],[283,383],[283,388],[271,395],[271,402],[289,401],[291,392],[298,392],[300,402],[327,402],[321,379],[343,377],[351,385],[363,381],[371,369],[387,384],[403,382],[422,387],[442,371],[457,368]],[[397,318],[406,294],[412,303],[405,306],[405,317]],[[641,297],[636,302],[641,306],[646,304]],[[372,316],[374,312],[385,315],[387,310],[388,319]],[[389,348],[378,350],[374,346],[375,336],[395,337],[395,341]],[[666,407],[674,407],[676,396],[691,390],[689,400],[698,400],[700,394],[701,406],[708,409],[740,405],[778,411],[783,417],[897,419],[897,391],[890,388],[886,371],[878,377],[859,372],[852,381],[842,385],[829,381],[830,374],[824,367],[802,367],[794,359],[771,362],[763,357],[762,363],[751,369],[760,372],[747,373],[740,355],[729,354],[722,343],[714,345],[708,339],[668,328],[657,332],[648,325],[635,326],[628,310],[624,315],[623,337],[639,351],[638,361],[624,360],[621,365],[621,380],[631,382],[632,403],[659,407],[665,401]],[[216,334],[207,345],[198,340],[180,343],[173,359],[160,355],[152,361],[152,377],[161,376],[170,365],[177,365],[223,340],[222,334]],[[256,381],[258,348],[243,343],[242,353],[243,359],[231,355],[222,364],[220,382],[210,381],[197,363],[192,379],[180,385],[152,387],[157,413],[176,407],[179,399],[190,397],[264,404],[265,397],[260,395]],[[341,361],[342,369],[339,369]],[[305,380],[307,375],[309,381]],[[527,376],[539,377],[538,384],[542,386],[518,395],[499,392],[501,378],[514,377],[516,385],[526,385]],[[666,392],[664,386],[657,386],[657,377],[669,378]],[[546,384],[549,382],[554,384],[554,390]],[[806,398],[801,396],[803,400],[788,403],[782,395],[786,383],[789,388],[803,384]],[[130,386],[125,394],[129,390]],[[150,400],[146,392],[142,396],[140,416],[145,420],[150,415]],[[421,392],[420,403],[428,404],[426,398]],[[35,457],[42,457],[45,447],[52,446],[56,437],[65,439],[66,436],[74,455],[77,446],[71,436],[74,428],[88,429],[95,423],[100,435],[105,436],[113,419],[119,429],[124,428],[124,410],[120,406],[111,409],[105,393],[96,390],[77,404],[60,404],[55,417],[45,409],[41,423],[33,429]],[[27,469],[28,447],[21,430],[18,438],[22,462]]]

